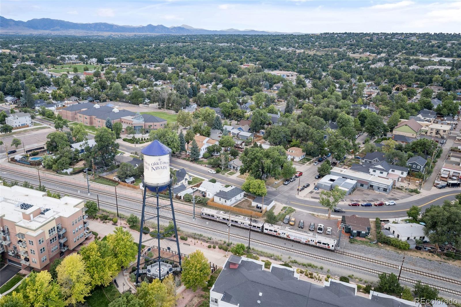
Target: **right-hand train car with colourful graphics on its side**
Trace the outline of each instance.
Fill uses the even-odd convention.
[[[290,227],[278,226],[269,223],[264,224],[264,233],[330,250],[335,250],[336,246],[336,240],[333,238],[319,236],[313,232],[294,230]]]

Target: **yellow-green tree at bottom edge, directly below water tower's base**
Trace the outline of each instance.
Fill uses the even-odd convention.
[[[166,278],[172,278],[172,276]],[[144,306],[173,307],[176,303],[176,298],[171,296],[166,284],[159,279],[154,279],[152,283],[142,282],[137,289],[137,294],[138,299],[144,302]]]

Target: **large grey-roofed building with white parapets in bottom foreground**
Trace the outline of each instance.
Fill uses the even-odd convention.
[[[293,268],[232,255],[210,290],[210,306],[257,307],[420,307],[420,304],[370,291],[357,295],[357,285],[330,279],[323,286],[299,279]]]

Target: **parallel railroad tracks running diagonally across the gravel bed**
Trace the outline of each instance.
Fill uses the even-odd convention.
[[[3,170],[3,171],[5,171],[5,170]],[[36,179],[36,177],[34,177],[34,176],[25,175],[25,174],[19,173],[19,172],[13,172],[13,171],[9,171],[9,170],[7,172],[16,173],[16,174],[18,174],[20,176],[23,176],[23,177],[31,177],[31,178]],[[19,181],[19,180],[13,179],[13,178],[7,178],[7,177],[3,177],[3,178],[8,179],[8,180],[12,180],[12,181],[18,181],[18,183],[24,183],[23,181]],[[72,187],[72,188],[82,189],[81,186],[73,185],[73,184],[70,184],[70,183],[62,183],[62,182],[47,179],[47,178],[43,178],[41,180],[46,181],[46,182],[56,183],[56,184],[59,184],[59,185],[69,186],[69,187]],[[38,187],[37,184],[32,184],[32,183],[29,183],[29,184],[31,186]],[[63,191],[58,190],[58,189],[49,189],[49,190],[53,191],[53,192],[58,192],[58,193],[65,193],[66,195],[86,199],[86,200],[89,200],[89,201],[97,201],[95,198],[89,197],[89,195],[66,193],[66,192],[63,192]],[[98,190],[95,190],[95,189],[90,189],[90,191],[93,191],[93,192],[98,193],[98,194],[114,197],[114,195],[112,195],[111,193],[108,193],[108,192],[101,192],[101,191],[98,191]],[[134,200],[132,198],[128,198],[128,197],[118,196],[118,198],[142,204],[142,201],[136,201],[136,200]],[[108,201],[99,201],[99,202],[106,205],[106,206],[109,206],[109,207],[116,207],[115,204],[113,204],[111,202],[108,202]],[[149,205],[149,206],[156,206],[156,204],[154,204],[154,203],[146,202],[146,204]],[[127,210],[127,211],[136,212],[136,213],[139,213],[139,214],[142,213],[142,211],[140,209],[136,209],[136,208],[132,208],[132,207],[126,207],[126,206],[123,206],[123,205],[118,205],[118,208],[124,209],[124,210]],[[192,213],[190,213],[188,211],[183,211],[183,210],[178,210],[178,209],[175,209],[175,212],[181,213],[181,214],[184,214],[184,215],[188,215],[188,216],[193,215]],[[148,213],[148,212],[146,212],[145,214],[150,215],[150,216],[155,216],[154,214],[151,214],[151,213]],[[164,218],[165,220],[171,220],[170,217],[166,217],[166,216],[161,216],[161,218]],[[215,232],[215,233],[218,233],[218,234],[221,234],[221,235],[224,235],[224,236],[228,235],[228,232],[226,232],[224,230],[216,230],[216,229],[213,229],[213,228],[210,228],[210,227],[207,227],[207,226],[202,226],[202,225],[194,224],[194,223],[179,220],[179,219],[176,219],[176,221],[179,224],[185,224],[185,225],[195,227],[195,228],[198,228],[198,229]],[[238,234],[234,234],[234,233],[231,233],[230,236],[232,236],[234,238],[237,238],[237,239],[244,240],[244,241],[248,240],[248,237],[238,235]],[[351,267],[351,268],[354,268],[354,269],[358,269],[358,270],[373,273],[373,274],[381,274],[381,273],[383,273],[383,271],[371,269],[371,268],[368,268],[368,267],[365,267],[365,266],[358,266],[358,265],[351,264],[349,262],[330,259],[328,257],[319,256],[317,254],[312,254],[312,253],[308,253],[308,252],[304,252],[304,251],[299,251],[299,250],[296,250],[294,248],[282,247],[282,246],[279,246],[277,244],[268,243],[268,242],[264,242],[264,241],[261,241],[261,240],[251,239],[251,242],[254,242],[254,243],[257,243],[257,244],[260,244],[260,245],[264,245],[264,246],[267,246],[267,247],[280,249],[280,250],[287,251],[287,252],[290,252],[290,253],[299,254],[301,256],[311,257],[311,258],[317,259],[317,260],[322,260],[322,261],[331,262],[331,263],[337,263],[337,264],[340,264],[342,266]],[[372,263],[382,265],[382,266],[386,266],[386,267],[389,267],[389,268],[392,268],[392,269],[400,269],[400,266],[398,266],[398,265],[390,264],[390,263],[387,263],[387,262],[384,262],[384,261],[374,260],[374,259],[364,257],[364,256],[359,256],[359,255],[355,255],[355,254],[351,254],[351,253],[347,253],[347,252],[343,252],[343,251],[339,251],[339,250],[335,250],[335,253],[343,254],[343,255],[348,256],[348,257],[352,257],[352,258],[356,258],[356,259],[360,259],[360,260],[364,260],[364,261],[368,261],[368,262],[372,262]],[[402,271],[414,273],[414,274],[421,275],[421,276],[424,276],[424,277],[434,278],[434,279],[444,281],[444,282],[447,282],[447,283],[453,283],[453,284],[456,284],[456,285],[461,285],[460,280],[456,280],[456,279],[449,278],[449,277],[438,276],[438,275],[435,275],[435,274],[422,272],[422,271],[418,271],[418,270],[414,270],[414,269],[409,269],[409,268],[406,268],[406,267],[402,267]],[[411,279],[411,278],[408,278],[408,277],[402,277],[401,276],[400,278],[403,281],[406,281],[408,283],[416,283],[416,281],[414,279]],[[434,285],[434,284],[431,284],[431,283],[425,283],[425,284],[427,284],[427,285],[429,285],[429,286],[431,286],[431,287],[433,287],[435,289],[438,289],[440,291],[461,296],[461,290],[449,289],[449,288],[437,286],[437,285]]]

